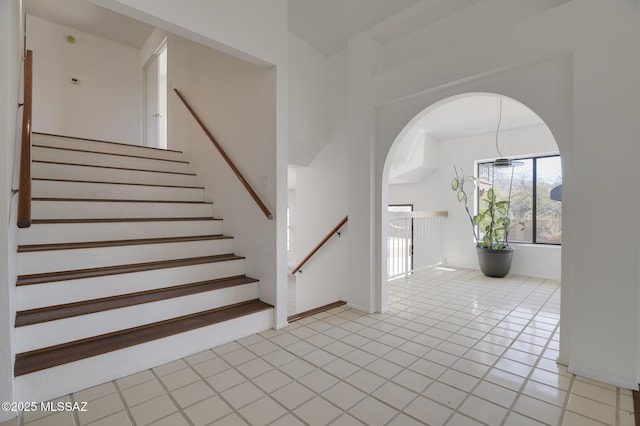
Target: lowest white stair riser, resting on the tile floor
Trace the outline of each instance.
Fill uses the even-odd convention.
[[[271,328],[273,310],[202,327],[186,333],[19,376],[16,401],[47,401]]]

